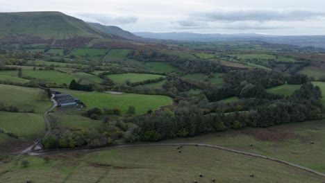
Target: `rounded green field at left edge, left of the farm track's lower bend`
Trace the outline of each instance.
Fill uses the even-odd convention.
[[[41,114],[0,112],[0,129],[31,141],[43,134],[45,122]]]

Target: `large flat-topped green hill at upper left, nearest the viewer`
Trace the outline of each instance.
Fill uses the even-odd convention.
[[[1,40],[68,40],[76,37],[121,39],[62,12],[1,12]]]

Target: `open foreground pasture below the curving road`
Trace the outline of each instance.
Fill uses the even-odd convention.
[[[29,166],[0,162],[6,182],[322,182],[323,177],[266,159],[213,148],[175,146],[112,148],[97,153],[22,157]],[[255,177],[249,175],[253,173]],[[203,177],[199,177],[202,174]]]

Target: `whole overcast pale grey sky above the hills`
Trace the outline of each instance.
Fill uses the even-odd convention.
[[[325,35],[324,0],[0,0],[1,12],[60,11],[131,32]]]

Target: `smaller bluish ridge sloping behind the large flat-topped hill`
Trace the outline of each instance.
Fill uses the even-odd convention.
[[[127,40],[137,40],[137,41],[145,40],[143,37],[134,35],[133,33],[123,30],[122,28],[119,28],[117,26],[104,26],[98,23],[91,23],[91,22],[88,22],[88,24],[94,28],[97,28],[98,30],[103,31],[104,33],[117,35],[119,37],[124,37]]]

